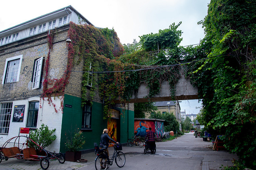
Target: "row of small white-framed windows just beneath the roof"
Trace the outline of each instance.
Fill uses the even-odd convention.
[[[52,20],[47,23],[43,23],[40,25],[36,25],[35,27],[31,27],[29,29],[29,36],[35,35],[36,33],[41,33],[49,29],[53,29],[55,27],[60,27],[67,23],[67,16],[58,18],[57,20]],[[18,40],[19,33],[14,33],[12,35],[8,35],[6,37],[0,38],[0,45],[4,45],[13,41]]]

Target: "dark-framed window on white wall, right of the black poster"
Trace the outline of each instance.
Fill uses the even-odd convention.
[[[29,102],[27,127],[36,127],[39,102]]]

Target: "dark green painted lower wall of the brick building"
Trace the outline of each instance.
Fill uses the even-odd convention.
[[[66,107],[66,105],[72,107]],[[122,111],[123,112],[123,111]],[[66,152],[66,134],[74,133],[82,126],[82,107],[81,98],[65,94],[64,108],[62,116],[62,130],[60,139],[60,152]],[[92,131],[83,132],[86,141],[81,150],[93,149],[94,142],[100,143],[100,135],[103,129],[107,128],[107,120],[102,118],[102,104],[93,102],[92,105]],[[129,135],[128,135],[129,134]],[[126,143],[128,137],[134,135],[134,111],[126,110],[120,117],[120,142]]]

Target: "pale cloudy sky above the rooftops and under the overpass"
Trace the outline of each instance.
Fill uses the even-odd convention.
[[[210,0],[3,0],[0,31],[71,5],[94,26],[114,28],[122,44],[139,41],[139,36],[158,33],[159,29],[182,21],[178,27],[183,32],[180,45],[194,45],[204,38],[204,29],[197,23],[204,20],[209,3]],[[180,106],[181,111],[186,106],[186,112],[196,114],[199,111],[194,106],[200,104],[184,101]]]

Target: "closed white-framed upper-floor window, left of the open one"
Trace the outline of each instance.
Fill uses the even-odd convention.
[[[6,59],[2,84],[19,81],[21,62],[22,55]]]

